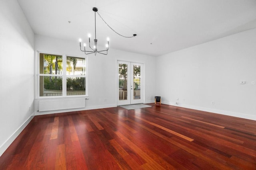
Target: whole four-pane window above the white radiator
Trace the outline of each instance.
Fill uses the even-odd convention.
[[[86,95],[86,59],[39,53],[39,96]]]

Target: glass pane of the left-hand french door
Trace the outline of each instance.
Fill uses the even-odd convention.
[[[119,100],[127,100],[127,64],[119,64]]]

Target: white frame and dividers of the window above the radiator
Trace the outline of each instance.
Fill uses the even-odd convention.
[[[40,74],[40,53],[43,54],[51,54],[51,55],[60,55],[62,56],[62,75],[60,74]],[[67,75],[66,75],[66,59],[68,57],[78,57],[78,58],[83,58],[85,59],[86,62],[86,75],[85,75],[85,95],[70,95],[67,96]],[[36,99],[44,99],[44,98],[72,98],[72,97],[88,97],[88,59],[87,56],[78,56],[78,55],[66,55],[66,54],[59,54],[59,53],[54,53],[54,52],[45,52],[45,51],[37,51],[37,57],[36,57]],[[62,77],[62,96],[40,96],[40,76],[58,76]],[[81,77],[80,75],[78,77]]]

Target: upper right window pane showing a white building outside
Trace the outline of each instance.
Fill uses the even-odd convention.
[[[67,75],[86,75],[85,59],[67,56]]]

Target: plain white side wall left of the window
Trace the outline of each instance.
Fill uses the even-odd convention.
[[[0,1],[0,155],[32,118],[34,33],[16,0]]]

